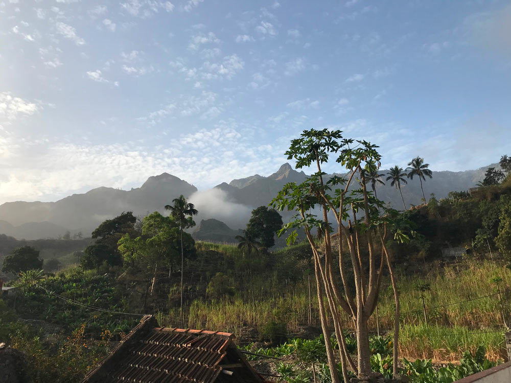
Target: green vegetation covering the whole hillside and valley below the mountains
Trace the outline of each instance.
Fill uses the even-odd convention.
[[[357,217],[350,218],[341,241],[342,256],[347,255],[341,259],[345,272],[342,297],[346,293],[356,296],[357,283],[346,236],[359,234],[359,270],[366,278],[370,275],[363,222],[363,187],[371,184],[373,188],[368,174],[359,171],[359,179],[367,176],[361,181],[362,189],[345,195],[344,203]],[[303,188],[290,186],[286,197],[303,193],[312,206],[310,183],[320,189],[319,174],[312,177]],[[327,182],[324,180],[325,185],[337,181]],[[479,187],[472,195],[452,192],[439,200],[432,196],[427,204],[400,214],[385,210],[366,193],[373,206],[372,227],[386,225],[388,230],[383,244],[373,247],[378,266],[384,249],[390,263],[396,265],[395,270],[382,268],[374,301],[378,317],[371,312],[367,318],[369,368],[387,377],[407,374],[412,383],[452,382],[502,360],[504,324],[511,319],[511,268],[506,267],[511,264],[509,176],[499,184]],[[377,219],[379,214],[387,214],[386,221]],[[310,381],[315,374],[318,381],[331,382],[329,365],[342,381],[352,376],[354,369],[350,366],[343,371],[339,350],[345,349],[356,363],[360,338],[355,335],[352,316],[343,312],[340,304],[337,311],[329,305],[336,301],[324,286],[328,278],[322,270],[331,272],[336,283],[343,278],[337,266],[331,270],[324,266],[328,254],[324,241],[330,234],[329,225],[334,225],[325,224],[324,218],[305,217],[312,243],[307,240],[269,252],[258,243],[263,235],[250,237],[248,228],[238,246],[195,243],[181,231],[183,224],[172,214],[164,217],[154,212],[137,223],[131,213],[123,213],[98,227],[95,242],[82,255],[80,266],[55,270],[58,264],[42,264],[36,256],[32,258],[38,259],[37,265],[22,270],[27,264],[21,262],[18,279],[11,281],[19,287],[18,294],[10,292],[0,300],[0,341],[27,355],[31,367],[26,381],[79,381],[108,352],[111,341],[120,340],[143,314],[153,313],[161,325],[234,332],[240,344],[248,343],[248,351],[284,357],[285,361],[276,362],[282,364],[276,365],[275,371],[287,381]],[[314,225],[319,235],[316,229],[311,232]],[[292,226],[286,228],[294,230]],[[373,233],[378,233],[377,229]],[[291,234],[292,242],[293,231]],[[332,251],[338,248],[336,238],[330,236],[332,265],[339,264],[338,254]],[[60,240],[65,244],[79,241]],[[442,256],[446,248],[461,250],[457,258],[446,258]],[[7,260],[8,266],[14,258]],[[41,266],[54,269],[54,273],[41,271]],[[390,271],[397,281],[394,285]],[[323,293],[319,300],[318,285]],[[370,286],[362,285],[364,289]],[[398,342],[393,341],[396,292],[400,298]],[[321,305],[324,323],[331,331],[328,337],[324,333],[318,337],[322,332]],[[24,320],[36,322],[28,325]],[[381,336],[376,335],[378,327]],[[394,346],[401,355],[396,366]],[[333,356],[330,361],[328,349]]]

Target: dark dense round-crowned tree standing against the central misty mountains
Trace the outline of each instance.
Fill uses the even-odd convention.
[[[275,245],[275,234],[282,228],[282,217],[275,209],[259,206],[252,210],[245,233],[254,240],[259,240],[265,248]]]

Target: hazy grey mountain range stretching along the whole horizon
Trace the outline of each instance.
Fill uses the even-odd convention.
[[[489,166],[498,167],[498,164]],[[468,190],[474,187],[484,178],[489,166],[463,172],[433,172],[432,179],[423,181],[426,198],[429,199],[431,193],[442,198],[452,190]],[[385,173],[386,171],[380,172],[382,175]],[[285,163],[268,177],[253,175],[198,191],[192,184],[163,173],[150,177],[141,187],[131,190],[98,187],[56,202],[4,203],[0,205],[0,234],[34,240],[57,237],[69,230],[72,234],[80,231],[88,236],[105,219],[118,216],[123,211],[133,211],[138,216],[145,216],[152,211],[163,213],[164,206],[182,194],[199,210],[197,222],[211,219],[217,221],[206,222],[207,229],[203,231],[211,233],[212,227],[216,225],[219,227],[218,234],[225,236],[228,235],[228,230],[231,230],[232,234],[243,228],[250,218],[251,210],[268,205],[284,184],[301,182],[306,177],[303,171],[295,171],[289,163]],[[382,180],[385,185],[377,185],[378,198],[401,209],[403,203],[399,191],[390,186],[390,181],[386,182],[384,177]],[[418,179],[408,179],[408,184],[402,185],[401,189],[407,207],[421,203],[422,192]],[[218,221],[226,224],[227,228],[220,229]],[[198,225],[194,236],[200,237],[201,226],[204,225]]]

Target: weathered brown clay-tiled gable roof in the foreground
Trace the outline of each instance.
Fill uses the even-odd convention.
[[[82,383],[262,383],[228,332],[158,327],[145,316]]]

